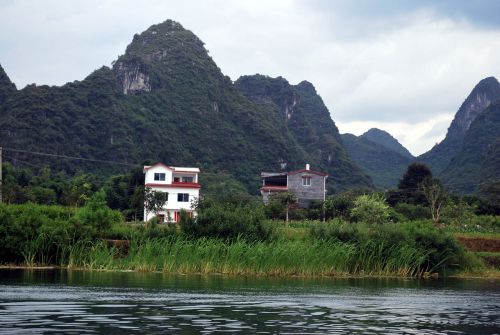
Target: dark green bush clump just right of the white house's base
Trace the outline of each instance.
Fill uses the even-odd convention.
[[[198,204],[198,216],[191,218],[181,213],[181,230],[193,237],[220,237],[248,240],[266,240],[272,229],[265,224],[262,206],[215,203],[205,200]]]

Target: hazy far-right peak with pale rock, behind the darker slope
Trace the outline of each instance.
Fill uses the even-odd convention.
[[[445,139],[418,157],[440,176],[450,164],[463,143],[464,136],[474,119],[493,101],[500,98],[500,84],[494,77],[481,80],[463,102],[453,119]]]

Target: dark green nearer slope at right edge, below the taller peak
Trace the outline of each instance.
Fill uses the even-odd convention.
[[[482,184],[500,180],[500,101],[471,123],[442,178],[450,189],[462,193],[478,192]]]

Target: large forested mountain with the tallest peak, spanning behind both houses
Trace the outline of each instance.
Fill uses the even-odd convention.
[[[283,84],[286,89],[272,92],[271,100],[257,101],[241,94],[238,82],[237,89],[202,41],[168,20],[135,35],[112,68],[83,81],[15,90],[0,71],[0,145],[129,164],[199,166],[226,172],[252,192],[260,171],[278,170],[282,163],[324,170],[330,191],[371,185],[345,154],[311,84]],[[286,115],[277,101],[288,101]],[[5,158],[100,175],[124,169],[8,150]]]

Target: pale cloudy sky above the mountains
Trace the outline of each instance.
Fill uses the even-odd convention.
[[[500,78],[496,0],[1,0],[0,64],[18,89],[82,80],[173,19],[222,72],[311,82],[341,133],[441,141],[483,78]]]

